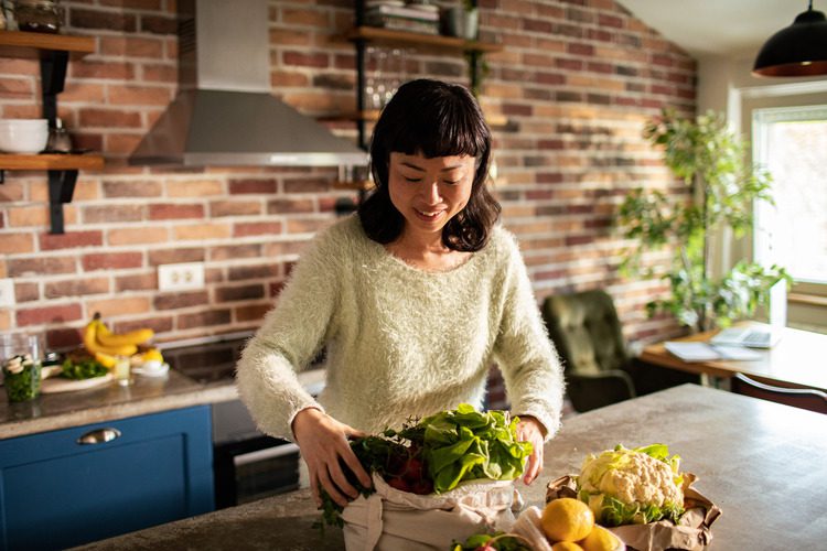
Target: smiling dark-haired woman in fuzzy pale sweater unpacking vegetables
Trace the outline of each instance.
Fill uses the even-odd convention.
[[[238,390],[260,429],[294,440],[316,503],[370,478],[347,436],[411,417],[482,406],[497,361],[518,436],[534,444],[525,483],[558,429],[562,375],[514,238],[495,225],[485,181],[491,132],[473,96],[438,80],[402,85],[370,144],[376,191],[321,233],[246,347]],[[294,371],[325,347],[316,402]]]

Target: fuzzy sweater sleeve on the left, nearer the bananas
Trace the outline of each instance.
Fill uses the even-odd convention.
[[[330,235],[316,237],[241,353],[238,393],[258,428],[272,436],[293,440],[296,414],[308,407],[323,410],[296,374],[313,360],[331,331],[341,255]]]

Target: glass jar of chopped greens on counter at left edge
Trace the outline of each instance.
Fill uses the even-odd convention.
[[[0,366],[10,402],[24,402],[40,396],[40,348],[34,335],[0,335]]]

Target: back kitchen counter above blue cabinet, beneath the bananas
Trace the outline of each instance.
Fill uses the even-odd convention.
[[[111,381],[86,390],[41,395],[28,402],[10,403],[2,397],[0,440],[229,401],[238,397],[232,379],[202,383],[175,369],[170,369],[167,377],[135,375],[133,379],[133,383],[127,387]],[[323,379],[324,369],[299,375],[299,380],[304,385],[318,383]]]

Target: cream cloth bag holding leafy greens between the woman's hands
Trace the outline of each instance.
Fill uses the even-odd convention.
[[[512,480],[469,480],[428,496],[391,488],[376,473],[373,482],[376,493],[342,511],[347,550],[444,551],[453,540],[507,530],[514,522]]]

